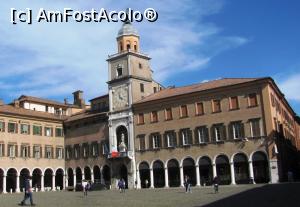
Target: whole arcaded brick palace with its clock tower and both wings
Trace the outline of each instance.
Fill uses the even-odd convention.
[[[0,191],[277,183],[299,178],[300,125],[272,78],[224,78],[184,87],[153,80],[129,23],[108,56],[108,94],[72,104],[21,96],[0,103]]]

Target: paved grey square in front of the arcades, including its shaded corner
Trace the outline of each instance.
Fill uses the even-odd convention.
[[[181,188],[94,191],[83,197],[81,192],[43,192],[34,193],[34,202],[41,207],[80,207],[80,206],[180,206],[180,207],[260,207],[260,206],[299,206],[300,183],[277,185],[221,186],[218,194],[211,187],[193,188],[186,194]],[[0,195],[1,207],[13,207],[22,200],[23,194]]]

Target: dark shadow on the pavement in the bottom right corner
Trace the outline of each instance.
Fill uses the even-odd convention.
[[[300,206],[300,183],[271,184],[220,199],[202,207]]]

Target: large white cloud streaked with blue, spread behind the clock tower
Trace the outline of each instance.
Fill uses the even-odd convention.
[[[164,81],[176,73],[203,69],[213,56],[247,42],[222,36],[221,28],[203,21],[218,13],[222,1],[2,1],[0,3],[0,96],[21,94],[60,98],[82,89],[90,99],[107,91],[108,54],[116,52],[121,23],[10,23],[10,8],[38,11],[65,7],[85,10],[126,7],[155,8],[155,23],[135,23],[142,51],[152,59],[155,78]],[[5,89],[5,90],[4,90]],[[1,98],[1,97],[0,97]]]

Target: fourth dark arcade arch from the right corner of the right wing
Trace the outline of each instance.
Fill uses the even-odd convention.
[[[201,157],[199,160],[200,184],[211,185],[213,179],[212,164],[209,157]]]

